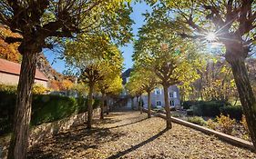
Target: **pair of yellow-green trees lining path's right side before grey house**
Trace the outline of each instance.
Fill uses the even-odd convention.
[[[199,77],[196,67],[200,65],[199,49],[179,37],[174,26],[160,16],[148,17],[148,23],[138,33],[133,55],[135,68],[127,84],[132,96],[148,94],[148,117],[151,116],[150,93],[157,85],[163,87],[167,129],[171,128],[169,86],[179,84],[188,88]]]

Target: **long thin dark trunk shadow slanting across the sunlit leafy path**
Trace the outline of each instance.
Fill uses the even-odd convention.
[[[118,154],[111,155],[110,157],[108,157],[108,159],[116,159],[116,158],[119,158],[119,157],[121,157],[125,154],[133,152],[133,151],[137,150],[139,147],[156,140],[160,135],[164,134],[167,131],[168,131],[167,129],[164,129],[161,132],[159,132],[159,134],[153,135],[152,137],[148,138],[148,140],[145,140],[142,143],[136,144],[135,146],[132,146],[131,148],[128,148],[125,151],[119,152]]]

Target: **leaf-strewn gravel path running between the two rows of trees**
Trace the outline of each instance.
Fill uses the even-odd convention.
[[[90,131],[80,125],[46,138],[31,147],[28,158],[256,158],[249,150],[179,124],[165,131],[163,119],[138,112],[111,113],[95,123]]]

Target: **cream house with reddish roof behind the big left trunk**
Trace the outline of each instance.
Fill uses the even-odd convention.
[[[20,64],[0,58],[0,84],[18,84]],[[35,83],[47,87],[48,78],[36,69]]]

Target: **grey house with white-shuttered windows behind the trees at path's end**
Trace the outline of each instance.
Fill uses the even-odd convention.
[[[122,74],[123,85],[128,83],[129,74],[132,70],[129,68]],[[127,92],[124,90],[122,95],[126,95]],[[179,97],[179,87],[177,85],[171,85],[168,89],[169,94],[169,105],[175,107],[176,109],[180,108],[180,97]],[[148,94],[142,94],[141,99],[143,100],[144,107],[148,106]],[[134,99],[135,102],[136,99]],[[151,92],[151,106],[152,107],[164,107],[164,91],[163,88],[155,88]]]

